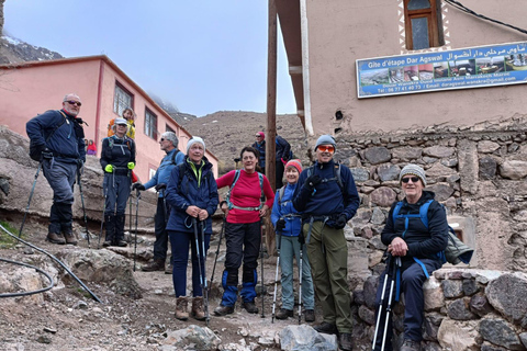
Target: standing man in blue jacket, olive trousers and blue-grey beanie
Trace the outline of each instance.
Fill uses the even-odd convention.
[[[351,171],[333,160],[335,139],[316,140],[315,165],[303,170],[293,200],[302,213],[307,256],[324,321],[318,332],[336,333],[341,350],[352,350],[348,285],[348,247],[344,227],[359,207]]]

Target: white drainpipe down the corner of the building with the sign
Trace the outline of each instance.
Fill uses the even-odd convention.
[[[305,132],[314,135],[313,121],[311,120],[311,91],[310,91],[310,43],[307,36],[307,1],[300,1],[300,30],[302,35],[302,82],[304,86],[304,121]]]

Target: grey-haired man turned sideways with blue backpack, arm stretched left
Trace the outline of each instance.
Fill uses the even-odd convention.
[[[178,143],[179,140],[176,136],[176,133],[166,132],[161,134],[159,145],[161,146],[161,150],[167,152],[167,155],[162,158],[156,174],[145,184],[135,183],[132,185],[132,189],[134,190],[146,190],[150,189],[152,186],[156,186],[156,191],[158,191],[157,211],[155,216],[156,241],[154,242],[154,261],[142,268],[142,271],[144,272],[165,270],[165,261],[167,259],[168,251],[168,233],[166,230],[166,226],[170,211],[167,208],[168,204],[165,203],[164,195],[172,169],[177,165],[182,163],[184,160],[184,154],[179,151]],[[169,269],[166,271],[166,273],[172,273],[171,267],[172,263],[170,260]]]

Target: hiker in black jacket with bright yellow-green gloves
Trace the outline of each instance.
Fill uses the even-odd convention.
[[[115,118],[115,134],[102,139],[101,166],[104,171],[104,247],[125,247],[124,222],[126,201],[135,168],[135,143],[126,136],[128,125],[124,118]]]

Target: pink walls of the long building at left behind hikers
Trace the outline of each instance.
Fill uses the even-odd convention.
[[[86,138],[97,143],[99,156],[102,139],[106,137],[108,123],[117,116],[113,112],[116,81],[134,95],[132,107],[136,112],[137,144],[135,172],[141,181],[146,182],[165,156],[158,141],[160,134],[166,132],[166,125],[178,135],[179,149],[183,152],[191,135],[105,56],[0,66],[0,124],[26,137],[25,123],[29,120],[47,110],[61,109],[64,95],[75,92],[82,101],[79,116],[89,125],[85,126]],[[157,139],[144,133],[146,107],[157,115]],[[216,157],[209,151],[206,157],[217,177]]]

